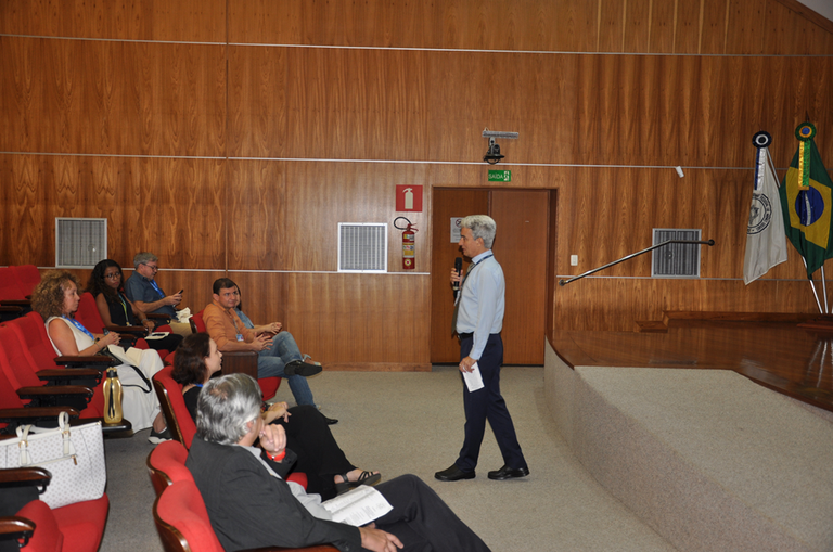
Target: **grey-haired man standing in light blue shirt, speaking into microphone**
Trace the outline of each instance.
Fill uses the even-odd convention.
[[[486,420],[503,455],[503,467],[489,472],[489,479],[512,479],[529,475],[515,426],[500,395],[500,367],[503,363],[504,292],[503,269],[491,253],[497,224],[486,215],[465,217],[461,223],[460,247],[472,259],[464,279],[451,270],[451,284],[461,282],[454,305],[454,331],[460,337],[460,372],[472,372],[476,364],[484,387],[470,391],[463,384],[465,439],[460,457],[448,470],[434,476],[440,482],[473,479],[480,453]]]

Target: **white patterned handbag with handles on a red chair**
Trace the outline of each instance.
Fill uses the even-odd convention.
[[[53,429],[18,426],[16,439],[0,441],[0,468],[48,470],[52,480],[39,498],[52,509],[101,498],[107,484],[101,422],[71,427],[61,412],[57,424]]]

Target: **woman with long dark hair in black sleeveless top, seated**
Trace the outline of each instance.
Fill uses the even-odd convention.
[[[87,282],[87,291],[95,298],[101,320],[104,321],[104,325],[144,326],[152,332],[156,324],[127,298],[124,281],[121,267],[113,259],[104,259],[92,269],[90,280]],[[165,337],[150,338],[146,342],[148,346],[154,350],[170,352],[182,343],[182,336],[170,333]]]

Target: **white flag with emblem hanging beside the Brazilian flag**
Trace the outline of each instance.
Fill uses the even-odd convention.
[[[758,132],[752,139],[758,149],[755,159],[755,190],[752,192],[743,281],[746,285],[786,260],[786,234],[778,196],[778,180],[767,146],[772,138]]]

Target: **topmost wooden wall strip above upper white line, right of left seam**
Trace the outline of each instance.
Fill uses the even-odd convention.
[[[235,0],[229,41],[256,44],[427,48],[530,52],[761,53],[766,29],[779,54],[830,51],[794,0]],[[785,7],[786,5],[786,7]],[[770,23],[769,10],[789,12]],[[833,25],[833,24],[831,24]],[[810,39],[807,37],[818,37]],[[676,47],[675,47],[676,44]]]

